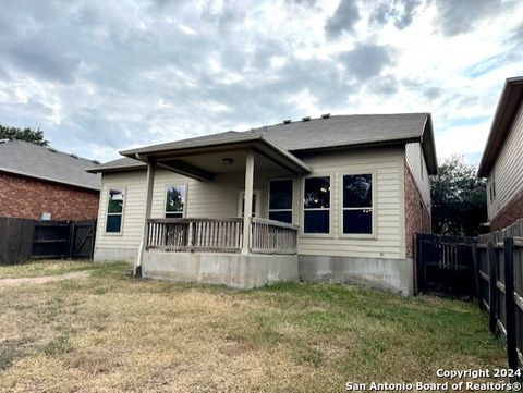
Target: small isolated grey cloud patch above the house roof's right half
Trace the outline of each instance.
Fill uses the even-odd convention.
[[[392,50],[376,44],[361,44],[338,57],[350,77],[366,81],[379,75],[381,70],[392,62]]]

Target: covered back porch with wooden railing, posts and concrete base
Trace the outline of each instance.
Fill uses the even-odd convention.
[[[257,193],[255,183],[259,184],[260,173],[265,173],[265,182],[275,176],[296,179],[311,169],[260,135],[169,145],[172,144],[123,152],[147,163],[144,234],[137,270],[145,277],[240,287],[296,280],[299,228],[268,219],[267,211],[259,209],[265,197]],[[199,204],[203,200],[205,207],[184,210],[183,217],[170,218],[166,213],[163,218],[153,218],[157,169],[191,179],[188,199],[192,193],[194,196],[191,187],[196,188]],[[212,194],[229,198],[221,197],[218,204]],[[231,217],[236,206],[238,216]],[[204,210],[208,216],[203,216]],[[282,275],[282,271],[287,273]]]

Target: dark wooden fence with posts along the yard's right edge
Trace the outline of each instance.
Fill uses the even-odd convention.
[[[478,236],[474,246],[476,296],[489,329],[507,348],[508,366],[523,366],[523,220]]]

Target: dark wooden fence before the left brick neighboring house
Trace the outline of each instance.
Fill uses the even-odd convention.
[[[0,218],[0,263],[93,257],[96,221]]]

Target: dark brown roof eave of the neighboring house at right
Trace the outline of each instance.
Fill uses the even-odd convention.
[[[509,135],[514,115],[523,103],[523,76],[510,77],[504,82],[501,97],[496,108],[487,145],[479,162],[477,175],[487,177]]]

